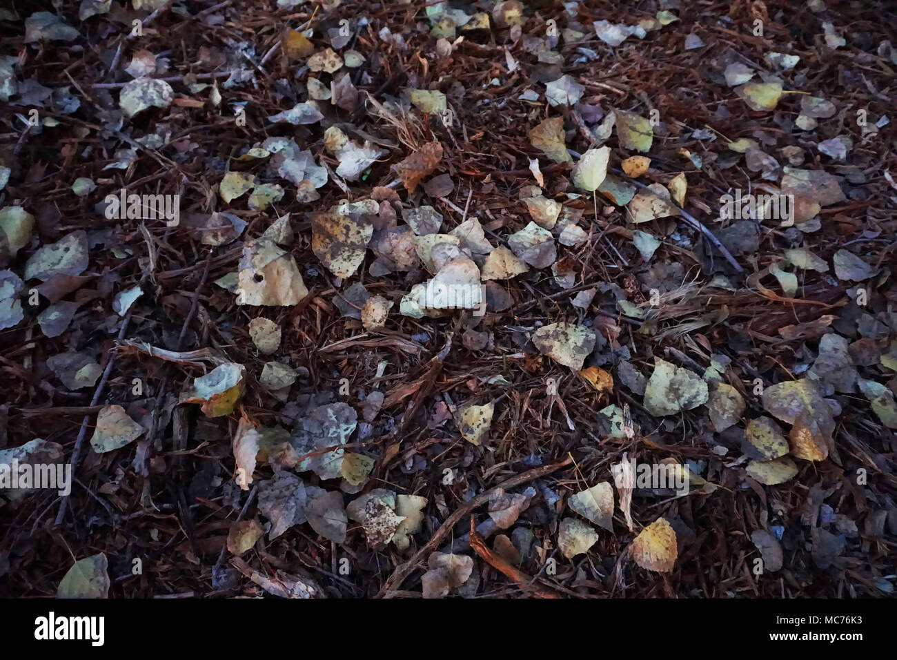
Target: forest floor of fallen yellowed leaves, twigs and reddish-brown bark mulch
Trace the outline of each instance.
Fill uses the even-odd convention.
[[[32,4],[0,593],[893,594],[884,3]]]

